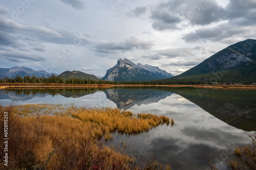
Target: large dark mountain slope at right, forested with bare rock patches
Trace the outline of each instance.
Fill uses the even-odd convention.
[[[256,82],[256,40],[230,45],[172,79]]]

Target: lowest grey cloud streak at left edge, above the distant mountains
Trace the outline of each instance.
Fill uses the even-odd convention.
[[[22,53],[22,52],[5,52],[0,53],[0,58],[9,60],[12,62],[23,62],[20,59],[25,59],[29,61],[45,61],[46,58],[44,56],[39,56],[36,54],[28,54],[28,53]]]

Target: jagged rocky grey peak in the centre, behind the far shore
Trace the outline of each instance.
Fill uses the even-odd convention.
[[[127,59],[119,59],[117,64],[106,71],[102,80],[106,81],[150,81],[173,77],[172,74],[151,65],[137,65]]]

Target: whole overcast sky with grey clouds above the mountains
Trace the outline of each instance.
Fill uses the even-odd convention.
[[[0,67],[104,76],[118,59],[179,75],[256,39],[255,0],[2,0]]]

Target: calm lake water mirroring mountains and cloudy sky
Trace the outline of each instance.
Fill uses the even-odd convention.
[[[250,143],[256,131],[256,90],[198,88],[108,89],[2,89],[3,105],[69,104],[112,107],[134,113],[154,113],[174,118],[176,125],[159,126],[139,135],[114,134],[108,145],[118,145],[136,159],[170,164],[173,169],[228,169],[235,147]],[[121,140],[127,147],[121,145]]]

